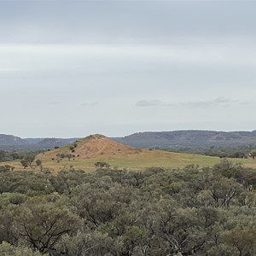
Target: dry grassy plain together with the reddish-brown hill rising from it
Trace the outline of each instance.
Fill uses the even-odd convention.
[[[57,156],[61,154],[73,154],[75,157],[68,160],[67,157]],[[113,168],[126,168],[128,170],[143,170],[150,166],[168,169],[183,168],[188,165],[213,166],[219,162],[218,157],[131,148],[101,135],[86,137],[76,143],[76,146],[73,143],[64,148],[38,154],[37,159],[42,160],[44,169],[49,169],[52,172],[70,169],[94,171],[97,161],[107,162]],[[256,160],[232,159],[232,161],[256,168]],[[15,170],[23,169],[19,161],[8,164],[15,166]],[[32,168],[33,170],[40,169],[39,166]]]

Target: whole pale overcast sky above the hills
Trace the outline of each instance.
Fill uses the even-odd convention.
[[[256,130],[255,1],[0,0],[0,133]]]

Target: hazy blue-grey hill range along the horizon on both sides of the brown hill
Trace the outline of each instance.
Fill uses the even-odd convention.
[[[255,131],[146,131],[114,141],[135,148],[210,148],[256,146]],[[48,149],[65,146],[79,138],[20,138],[0,134],[0,149]]]

